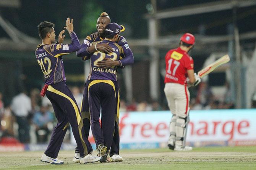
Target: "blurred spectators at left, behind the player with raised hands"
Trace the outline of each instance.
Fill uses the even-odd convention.
[[[71,87],[80,107],[83,87]],[[14,137],[21,143],[47,143],[57,123],[52,104],[41,97],[39,89],[17,94],[10,103],[3,102],[0,92],[0,143],[2,137]],[[70,141],[70,130],[64,141]]]

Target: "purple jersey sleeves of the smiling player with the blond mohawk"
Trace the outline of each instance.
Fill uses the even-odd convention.
[[[88,51],[88,47],[97,41],[102,41],[103,39],[99,36],[98,32],[94,32],[91,35],[88,35],[84,42],[81,44],[81,49],[79,49],[76,52],[76,55],[78,57],[82,57],[82,60],[88,60],[90,59],[91,53]],[[133,64],[134,62],[134,57],[133,57],[133,52],[129,48],[129,45],[126,41],[126,39],[122,36],[118,37],[117,44],[119,46],[122,46],[123,49],[125,49],[124,53],[121,54],[121,66]],[[94,44],[95,45],[95,44]]]

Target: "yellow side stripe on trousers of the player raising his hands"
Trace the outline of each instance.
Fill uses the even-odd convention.
[[[81,121],[81,116],[80,116],[80,114],[79,114],[79,109],[78,109],[76,103],[74,102],[74,100],[72,100],[70,97],[68,97],[68,95],[66,95],[66,94],[64,94],[63,92],[60,92],[60,91],[54,89],[54,88],[53,88],[52,86],[50,86],[50,85],[48,86],[47,91],[50,91],[50,92],[53,92],[53,93],[55,93],[55,94],[58,94],[58,95],[60,95],[60,96],[62,96],[62,97],[65,97],[66,99],[68,99],[68,100],[71,102],[71,104],[72,104],[72,106],[73,106],[73,108],[74,108],[74,110],[75,110],[75,113],[76,113],[76,119],[77,119],[77,123],[78,123],[78,131],[79,131],[79,136],[80,136],[80,139],[81,139],[83,148],[84,148],[84,154],[87,155],[87,154],[88,154],[87,146],[86,146],[86,143],[85,143],[84,140],[83,140],[82,132],[81,132],[81,130],[82,130],[84,124],[83,124],[83,121]]]

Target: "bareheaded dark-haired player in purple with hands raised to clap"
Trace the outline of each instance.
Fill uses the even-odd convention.
[[[70,54],[80,49],[80,43],[73,31],[73,19],[66,20],[64,27],[70,37],[71,44],[61,44],[65,38],[62,30],[59,34],[58,44],[55,43],[54,24],[51,22],[41,22],[38,25],[39,36],[42,44],[37,46],[35,55],[39,66],[44,74],[45,86],[41,95],[46,94],[52,103],[55,116],[58,120],[57,126],[54,127],[49,145],[41,157],[41,161],[51,164],[63,164],[63,160],[57,159],[60,146],[62,145],[67,127],[71,124],[77,146],[80,151],[80,164],[97,162],[102,157],[91,156],[92,146],[86,138],[83,128],[81,113],[70,89],[66,86],[66,77],[63,67],[63,55]]]

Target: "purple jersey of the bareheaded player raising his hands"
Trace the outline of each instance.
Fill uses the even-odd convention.
[[[44,74],[45,84],[66,81],[62,56],[81,48],[75,32],[70,33],[71,44],[39,44],[36,59]]]

